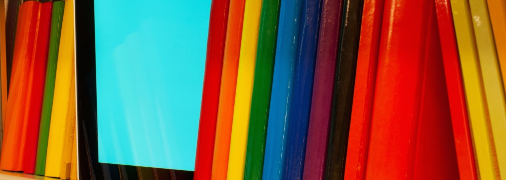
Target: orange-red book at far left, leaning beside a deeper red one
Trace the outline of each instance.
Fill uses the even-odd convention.
[[[30,89],[29,76],[33,61],[33,47],[37,32],[38,13],[41,3],[29,1],[19,7],[18,23],[13,53],[13,68],[10,81],[10,91],[7,100],[7,115],[5,119],[4,139],[0,169],[23,170],[23,155],[26,142],[25,117],[27,99]]]

